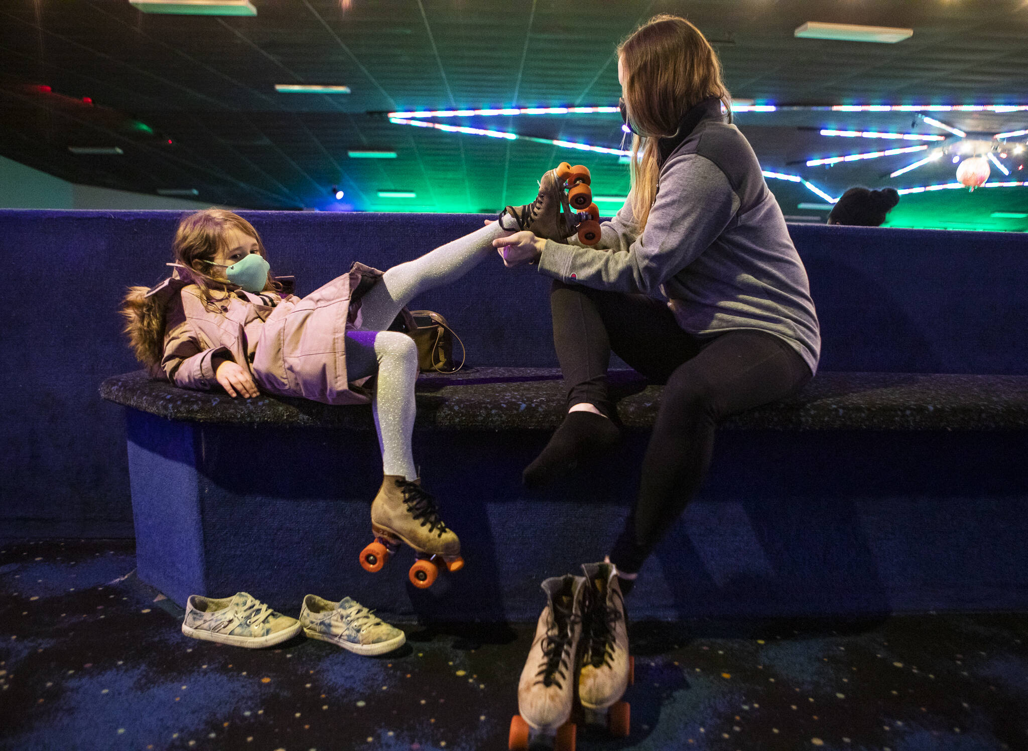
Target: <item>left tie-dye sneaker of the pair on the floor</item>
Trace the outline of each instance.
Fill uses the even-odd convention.
[[[299,632],[296,618],[276,612],[246,592],[220,600],[190,595],[182,622],[182,633],[193,639],[251,649],[281,644]]]

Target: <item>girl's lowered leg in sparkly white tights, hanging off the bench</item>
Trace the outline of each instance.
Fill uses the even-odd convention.
[[[414,430],[417,345],[395,331],[346,332],[346,374],[351,380],[377,373],[371,403],[382,454],[382,474],[417,479],[410,449]]]

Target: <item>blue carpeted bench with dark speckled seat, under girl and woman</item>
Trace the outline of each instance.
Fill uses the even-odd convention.
[[[539,581],[601,557],[632,497],[660,387],[614,381],[619,455],[529,493],[518,474],[561,419],[559,373],[419,379],[416,456],[468,561],[423,592],[409,551],[378,574],[358,566],[380,480],[370,409],[110,378],[101,393],[130,408],[139,575],[180,603],[244,589],[293,610],[320,592],[400,616],[529,619]],[[725,423],[712,481],[644,570],[633,613],[1023,606],[1028,521],[988,496],[1024,499],[1026,427],[1028,376],[823,373]]]

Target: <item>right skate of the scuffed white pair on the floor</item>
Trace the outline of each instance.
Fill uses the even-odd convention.
[[[632,679],[628,624],[617,569],[611,563],[582,565],[589,588],[579,671],[579,701],[587,724],[603,724],[627,737],[629,707],[621,701]]]

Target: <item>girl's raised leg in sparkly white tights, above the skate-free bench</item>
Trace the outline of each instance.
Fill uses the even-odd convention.
[[[361,328],[384,331],[400,308],[418,293],[461,278],[486,258],[494,256],[497,249],[492,240],[508,234],[510,232],[502,229],[499,223],[492,222],[420,258],[389,269],[361,298]]]

